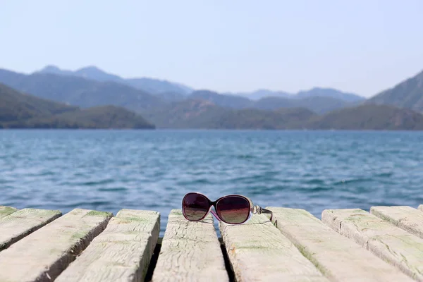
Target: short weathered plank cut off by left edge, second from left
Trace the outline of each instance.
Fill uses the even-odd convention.
[[[61,216],[60,211],[20,209],[0,219],[0,251]]]

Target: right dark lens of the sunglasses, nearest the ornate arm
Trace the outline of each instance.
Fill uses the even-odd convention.
[[[243,223],[250,216],[250,202],[245,197],[224,197],[217,202],[216,212],[227,223]]]

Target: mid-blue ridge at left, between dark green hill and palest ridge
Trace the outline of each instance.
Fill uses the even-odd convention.
[[[24,75],[0,70],[0,83],[20,92],[81,107],[123,106],[140,111],[164,102],[152,94],[117,82],[99,82],[77,76],[35,73]]]

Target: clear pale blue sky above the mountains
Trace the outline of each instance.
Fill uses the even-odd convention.
[[[371,97],[423,70],[421,0],[0,0],[0,68]]]

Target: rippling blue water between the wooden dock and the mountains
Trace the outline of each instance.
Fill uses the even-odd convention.
[[[183,195],[262,207],[423,204],[423,133],[0,130],[0,205],[161,213]]]

